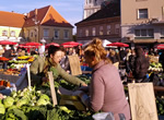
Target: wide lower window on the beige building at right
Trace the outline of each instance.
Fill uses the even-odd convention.
[[[134,29],[136,37],[154,37],[153,29]]]

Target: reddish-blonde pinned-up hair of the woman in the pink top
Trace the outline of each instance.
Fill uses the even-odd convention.
[[[95,57],[97,62],[105,60],[106,63],[112,63],[112,61],[106,57],[107,51],[103,47],[102,40],[99,38],[93,38],[91,44],[84,48],[84,55],[86,57]]]

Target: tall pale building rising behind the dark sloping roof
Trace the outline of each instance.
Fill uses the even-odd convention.
[[[84,14],[83,19],[89,17],[101,9],[102,2],[105,0],[84,0]]]

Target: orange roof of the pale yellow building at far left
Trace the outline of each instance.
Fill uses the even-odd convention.
[[[23,14],[0,11],[0,26],[23,27],[23,24],[24,24]]]

